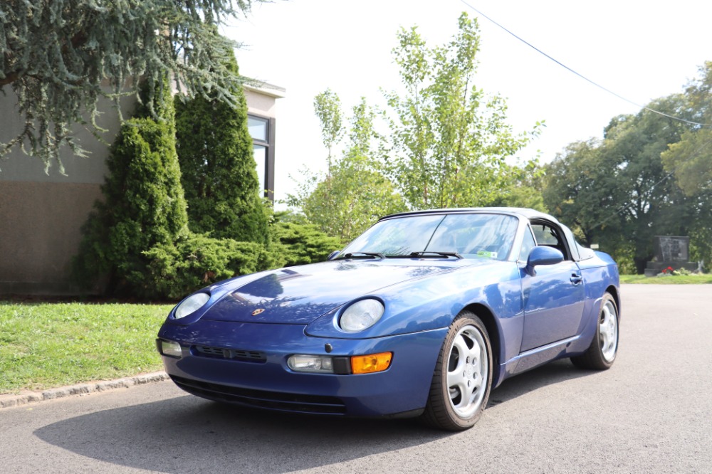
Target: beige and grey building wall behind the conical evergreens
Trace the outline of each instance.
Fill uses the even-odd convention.
[[[248,92],[252,113],[274,116],[276,97]],[[11,91],[0,93],[0,140],[14,137],[23,123],[15,112]],[[130,116],[133,100],[122,102],[124,117]],[[56,163],[45,172],[37,157],[19,149],[0,159],[0,294],[71,295],[72,257],[78,251],[81,227],[93,204],[101,197],[100,186],[107,172],[105,160],[119,120],[107,101],[99,125],[109,130],[100,142],[90,132],[77,130],[88,158],[74,156],[67,147],[61,152],[65,174]]]

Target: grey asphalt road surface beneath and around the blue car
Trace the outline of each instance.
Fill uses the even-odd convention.
[[[171,382],[0,410],[0,473],[712,473],[712,285],[625,285],[618,359],[505,381],[464,433],[220,406]]]

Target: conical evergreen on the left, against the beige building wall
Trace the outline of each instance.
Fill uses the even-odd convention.
[[[188,232],[172,97],[168,90],[155,97],[162,100],[145,102],[121,127],[107,159],[103,201],[95,203],[75,259],[80,283],[107,278],[109,293],[151,295],[143,252]]]

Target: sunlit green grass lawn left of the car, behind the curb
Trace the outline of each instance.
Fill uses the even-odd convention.
[[[171,307],[0,301],[0,394],[162,369],[155,338]]]

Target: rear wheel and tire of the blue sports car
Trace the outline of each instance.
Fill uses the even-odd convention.
[[[581,369],[610,369],[618,354],[619,315],[616,301],[604,293],[598,315],[596,335],[586,352],[571,357],[571,362]]]

